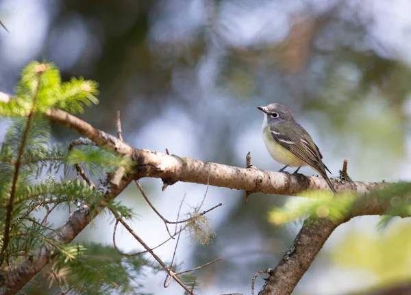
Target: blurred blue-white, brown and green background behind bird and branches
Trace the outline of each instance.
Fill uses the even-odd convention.
[[[0,91],[13,93],[32,59],[54,61],[63,79],[100,84],[100,104],[83,119],[136,148],[245,167],[278,170],[266,152],[256,107],[286,104],[312,135],[336,176],[349,163],[354,180],[411,180],[411,2],[408,0],[0,0]],[[6,124],[0,126],[4,131]],[[54,140],[77,137],[54,126]],[[292,170],[291,170],[292,172]],[[312,175],[309,168],[301,173]],[[206,186],[177,183],[162,192],[141,181],[156,208],[173,220],[201,203]],[[210,187],[214,241],[184,236],[177,263],[196,272],[199,294],[251,293],[251,278],[274,267],[301,223],[275,226],[269,212],[286,196]],[[133,228],[150,246],[168,238],[134,184],[119,197],[139,218]],[[64,217],[64,219],[62,219]],[[66,216],[55,216],[55,224]],[[411,223],[378,216],[336,229],[293,294],[354,294],[411,279]],[[78,241],[112,244],[112,219],[99,216]],[[119,229],[121,249],[140,249]],[[155,252],[171,259],[173,242]],[[263,276],[264,277],[264,276]],[[164,273],[147,273],[145,292],[183,294]],[[264,281],[260,277],[256,289]]]

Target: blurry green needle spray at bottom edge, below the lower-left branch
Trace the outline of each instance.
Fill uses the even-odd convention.
[[[160,270],[145,255],[123,256],[113,247],[97,243],[66,245],[58,257],[53,259],[52,266],[53,269],[49,264],[44,270],[47,287],[52,287],[55,292],[60,284],[68,294],[84,295],[143,295],[145,293],[140,290],[145,270]],[[35,293],[35,286],[27,285],[25,292]]]

